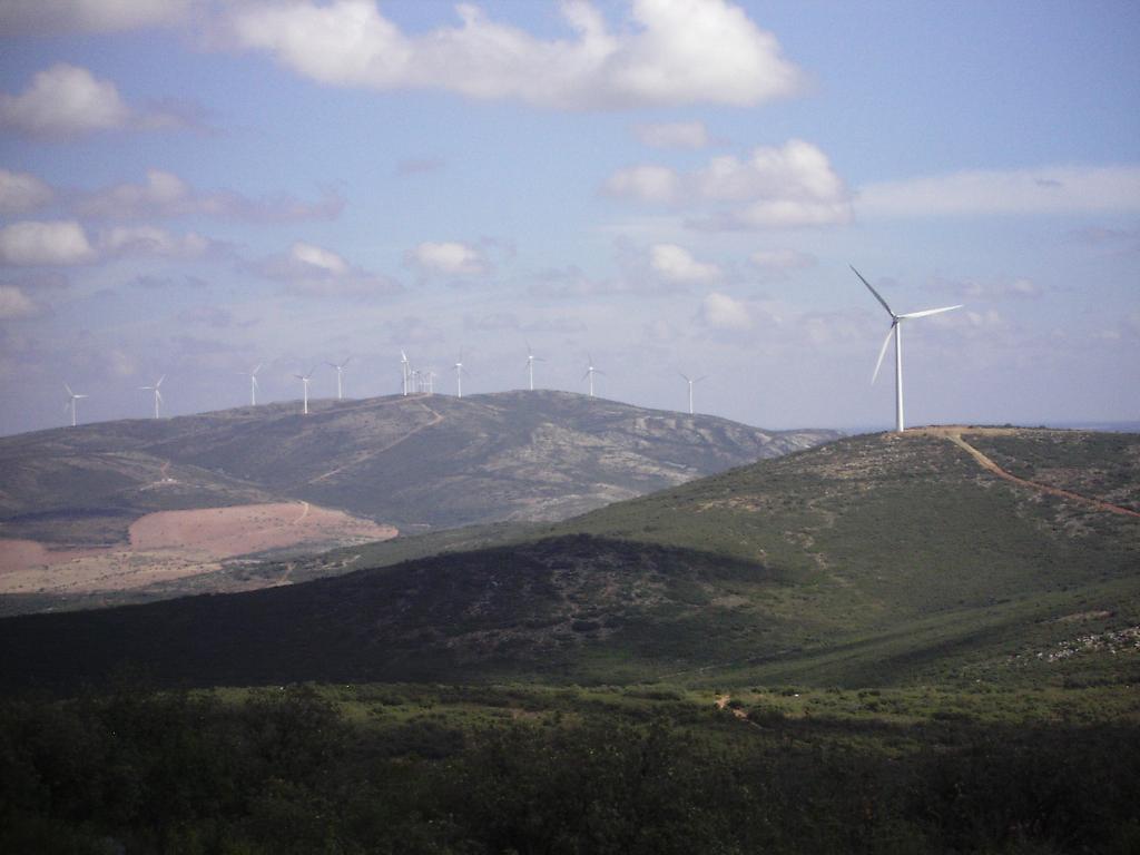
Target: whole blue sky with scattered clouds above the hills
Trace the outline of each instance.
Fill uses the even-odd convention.
[[[1140,421],[1140,5],[0,0],[0,433],[536,385]]]

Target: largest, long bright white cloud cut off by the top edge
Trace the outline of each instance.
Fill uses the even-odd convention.
[[[373,0],[244,3],[229,30],[238,46],[324,83],[560,108],[749,106],[801,88],[775,36],[726,0],[633,0],[632,25],[618,32],[586,0],[562,8],[571,39],[536,38],[467,3],[456,7],[459,26],[409,35]]]

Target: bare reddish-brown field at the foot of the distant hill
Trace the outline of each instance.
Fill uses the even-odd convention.
[[[162,511],[131,524],[129,547],[55,549],[0,539],[0,594],[123,591],[213,572],[241,555],[318,552],[396,535],[391,526],[307,502]]]

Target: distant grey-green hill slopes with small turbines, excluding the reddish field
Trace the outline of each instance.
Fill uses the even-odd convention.
[[[838,435],[569,392],[272,404],[0,439],[0,532],[124,540],[174,508],[283,499],[401,530],[557,520]]]

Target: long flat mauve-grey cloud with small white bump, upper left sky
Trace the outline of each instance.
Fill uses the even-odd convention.
[[[76,210],[85,217],[138,219],[149,217],[220,217],[253,222],[296,222],[332,220],[344,206],[334,193],[318,202],[303,202],[292,196],[251,199],[238,193],[195,190],[173,172],[147,170],[142,184],[119,184],[88,194]]]

